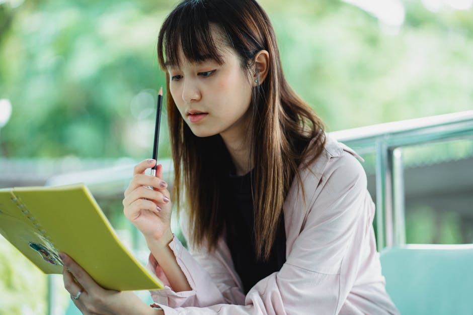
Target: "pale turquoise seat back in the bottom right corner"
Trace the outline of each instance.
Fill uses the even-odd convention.
[[[473,315],[473,244],[404,245],[380,253],[401,314]]]

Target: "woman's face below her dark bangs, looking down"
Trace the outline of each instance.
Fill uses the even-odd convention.
[[[180,67],[168,67],[170,91],[196,136],[220,134],[222,138],[235,139],[249,129],[253,82],[243,71],[237,54],[219,40],[217,32],[212,30],[212,35],[218,39],[215,42],[223,64],[213,59],[190,63],[180,52]]]

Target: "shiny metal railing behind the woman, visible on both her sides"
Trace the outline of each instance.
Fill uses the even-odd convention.
[[[381,250],[406,242],[403,147],[473,137],[473,111],[347,129],[330,135],[360,155],[376,155],[376,242]],[[172,177],[172,161],[161,162],[164,175]],[[61,174],[50,178],[47,184],[82,181],[94,194],[117,188],[121,193],[131,179],[132,168],[130,164]]]

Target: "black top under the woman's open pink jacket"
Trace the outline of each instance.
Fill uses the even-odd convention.
[[[254,207],[251,192],[251,172],[229,175],[228,203],[226,206],[226,242],[235,270],[243,282],[245,294],[261,279],[279,271],[286,261],[286,234],[284,217],[267,261],[257,260],[255,254]]]

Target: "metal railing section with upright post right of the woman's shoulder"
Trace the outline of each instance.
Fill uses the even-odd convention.
[[[406,243],[403,147],[473,137],[473,111],[348,129],[331,135],[359,154],[376,155],[376,243],[381,250]]]

